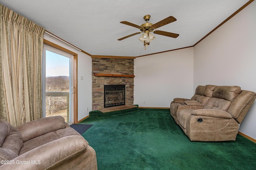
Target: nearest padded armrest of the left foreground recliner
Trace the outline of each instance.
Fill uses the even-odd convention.
[[[66,159],[79,154],[88,146],[86,140],[80,135],[62,137],[40,147],[32,149],[10,160],[12,164],[3,164],[4,170],[36,170],[48,169]]]

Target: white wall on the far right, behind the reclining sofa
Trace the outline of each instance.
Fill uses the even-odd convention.
[[[256,92],[256,1],[194,47],[198,84],[236,85]],[[239,131],[256,139],[256,102]]]

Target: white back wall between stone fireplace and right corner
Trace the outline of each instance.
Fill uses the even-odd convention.
[[[193,47],[134,59],[134,104],[170,107],[174,98],[191,98],[193,60]]]

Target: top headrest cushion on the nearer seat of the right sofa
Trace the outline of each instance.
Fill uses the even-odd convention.
[[[217,86],[212,97],[233,101],[242,92],[239,86]]]

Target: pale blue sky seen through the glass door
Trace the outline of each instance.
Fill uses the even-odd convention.
[[[69,76],[69,58],[46,50],[46,77]]]

